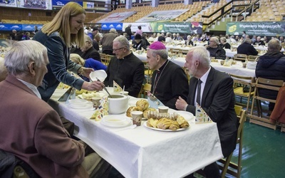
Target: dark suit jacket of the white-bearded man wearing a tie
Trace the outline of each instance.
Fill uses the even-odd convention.
[[[197,78],[190,78],[187,111],[195,115],[195,93]],[[237,115],[234,112],[234,90],[232,78],[227,73],[211,68],[204,85],[201,107],[213,122],[217,123],[222,154],[229,156],[237,144]]]

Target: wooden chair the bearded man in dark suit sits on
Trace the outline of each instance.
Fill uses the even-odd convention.
[[[237,157],[237,164],[231,162],[233,152],[227,158],[219,159],[219,169],[222,170],[222,178],[224,178],[227,173],[239,178],[242,172],[242,135],[244,132],[244,121],[247,116],[246,111],[242,110],[242,107],[239,105],[235,105],[234,110],[237,113],[237,118],[239,119],[239,128],[237,130],[237,144],[239,144],[239,155]],[[228,167],[231,167],[232,169],[228,169]]]

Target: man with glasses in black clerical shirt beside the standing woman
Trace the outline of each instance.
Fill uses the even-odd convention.
[[[138,57],[130,51],[130,43],[125,36],[118,36],[113,41],[113,53],[106,70],[106,86],[113,87],[113,81],[129,92],[129,95],[138,97],[142,82],[145,78],[145,67]]]

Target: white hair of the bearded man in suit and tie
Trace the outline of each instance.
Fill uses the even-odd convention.
[[[204,67],[210,66],[209,51],[204,46],[195,46],[190,48],[188,53],[193,53],[193,59],[199,61]]]

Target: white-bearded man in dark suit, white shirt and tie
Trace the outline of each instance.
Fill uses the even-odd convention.
[[[226,73],[210,66],[209,52],[204,46],[190,49],[186,56],[185,67],[188,68],[190,79],[187,102],[179,98],[176,102],[178,110],[186,110],[195,115],[196,101],[207,115],[217,123],[222,153],[227,157],[236,147],[237,115],[234,112],[233,80]],[[198,80],[201,80],[200,100],[197,90]],[[203,169],[206,177],[219,177],[219,167],[214,162]]]

